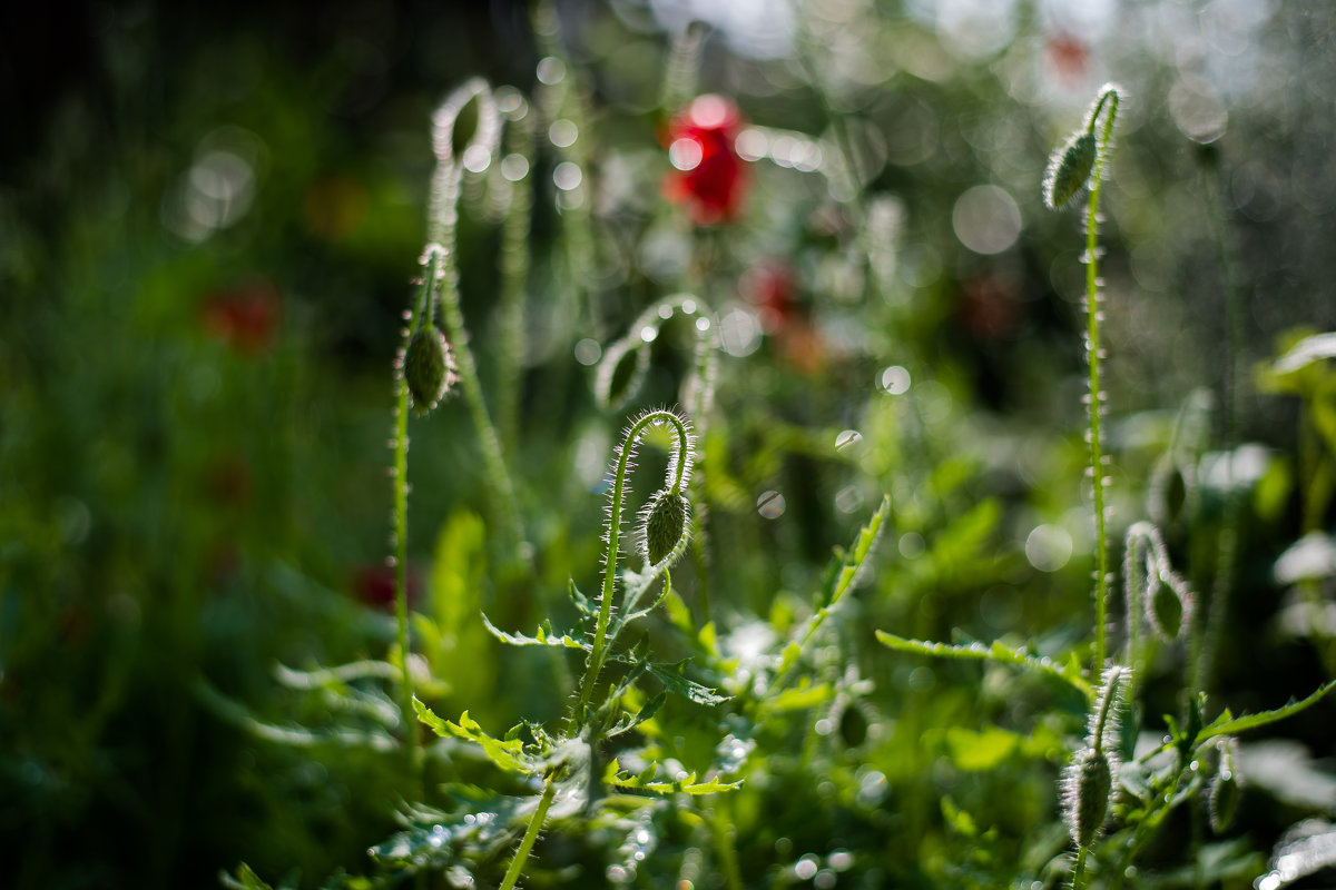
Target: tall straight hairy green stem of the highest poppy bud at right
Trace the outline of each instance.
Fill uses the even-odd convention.
[[[1105,636],[1108,628],[1109,599],[1109,542],[1105,539],[1104,500],[1104,448],[1102,448],[1102,402],[1104,388],[1100,375],[1102,359],[1100,347],[1100,192],[1104,183],[1104,168],[1109,156],[1109,139],[1113,135],[1113,121],[1118,113],[1118,93],[1105,88],[1090,113],[1089,129],[1094,132],[1096,120],[1105,101],[1109,113],[1105,117],[1100,151],[1096,155],[1094,171],[1090,173],[1090,203],[1086,208],[1086,358],[1090,366],[1090,480],[1094,484],[1094,526],[1096,526],[1096,588],[1094,588],[1094,663],[1096,677],[1104,671]]]

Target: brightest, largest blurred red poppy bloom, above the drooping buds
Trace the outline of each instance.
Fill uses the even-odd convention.
[[[701,226],[737,216],[747,169],[733,141],[741,115],[723,96],[697,96],[668,127],[668,160],[673,171],[664,183],[669,200],[687,204]]]

